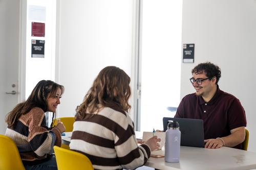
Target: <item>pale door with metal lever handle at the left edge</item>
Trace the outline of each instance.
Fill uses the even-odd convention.
[[[5,133],[5,116],[18,103],[20,95],[19,3],[19,0],[0,1],[0,134]]]

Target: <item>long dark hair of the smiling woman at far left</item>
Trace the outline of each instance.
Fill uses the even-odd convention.
[[[16,105],[14,109],[6,115],[5,122],[8,124],[8,128],[13,128],[18,118],[23,114],[27,114],[33,107],[39,107],[46,112],[47,99],[54,97],[58,89],[60,89],[61,94],[63,94],[63,86],[51,80],[39,81],[29,95],[29,98],[25,102]]]

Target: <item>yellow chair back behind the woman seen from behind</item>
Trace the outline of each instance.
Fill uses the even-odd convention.
[[[86,155],[57,146],[54,146],[53,149],[55,152],[58,170],[94,169],[92,162]]]

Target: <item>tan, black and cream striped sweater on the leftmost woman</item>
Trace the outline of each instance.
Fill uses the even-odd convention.
[[[14,140],[23,161],[44,161],[53,153],[53,145],[61,145],[61,133],[57,128],[49,131],[45,113],[34,107],[19,117],[15,128],[7,128],[6,136]]]

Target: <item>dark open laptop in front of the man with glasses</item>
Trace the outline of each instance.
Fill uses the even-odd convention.
[[[169,121],[176,120],[180,125],[180,145],[204,148],[204,124],[202,119],[163,117],[163,130]]]

